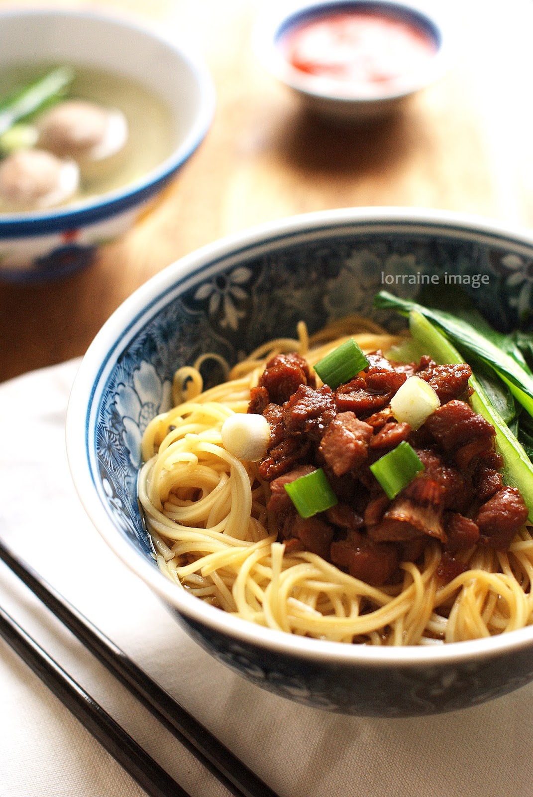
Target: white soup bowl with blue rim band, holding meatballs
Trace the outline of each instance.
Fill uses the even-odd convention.
[[[201,143],[214,113],[214,85],[196,57],[155,31],[86,10],[0,14],[0,69],[79,65],[136,80],[170,110],[173,150],[133,183],[52,210],[0,214],[0,280],[64,277],[92,263],[98,247],[126,232]]]

